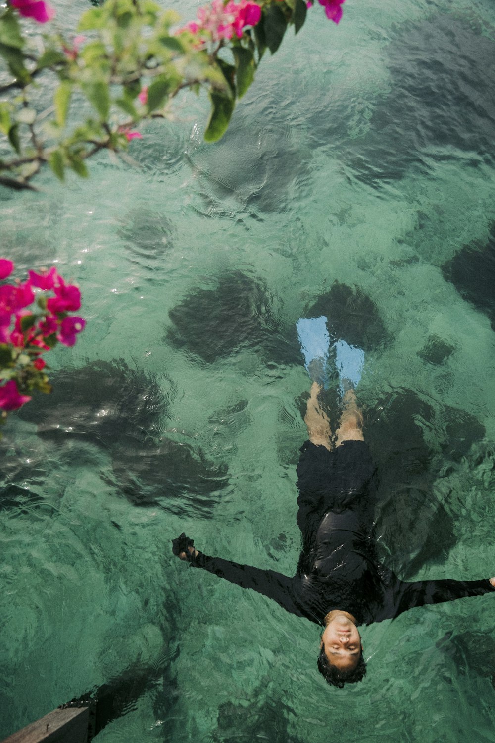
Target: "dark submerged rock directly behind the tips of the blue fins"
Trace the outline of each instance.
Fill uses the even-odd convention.
[[[361,288],[335,281],[330,291],[306,308],[304,317],[328,318],[330,337],[358,345],[364,351],[376,351],[388,343],[387,331],[378,308]]]

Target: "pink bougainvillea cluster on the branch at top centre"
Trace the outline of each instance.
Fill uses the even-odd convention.
[[[189,22],[186,30],[199,36],[206,32],[214,42],[232,39],[234,34],[240,39],[243,29],[255,26],[260,18],[261,6],[250,0],[240,0],[239,3],[213,0],[211,4],[198,9],[197,21]]]

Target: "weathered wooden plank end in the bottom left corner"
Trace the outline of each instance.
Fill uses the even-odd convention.
[[[90,707],[53,710],[1,743],[88,743]]]

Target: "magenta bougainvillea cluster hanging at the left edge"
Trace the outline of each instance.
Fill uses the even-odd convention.
[[[13,262],[0,258],[0,279],[7,279],[13,272]],[[39,294],[53,293],[53,296]],[[28,309],[38,294],[36,310]],[[79,310],[81,293],[73,284],[66,284],[56,268],[29,272],[26,282],[15,282],[0,286],[0,346],[11,354],[13,369],[17,364],[16,379],[10,379],[0,387],[0,408],[4,411],[15,410],[30,400],[29,395],[19,392],[19,383],[26,377],[26,370],[36,375],[45,368],[42,358],[44,351],[49,351],[57,342],[74,345],[76,335],[85,326],[85,320],[69,313]],[[22,360],[24,356],[24,360]],[[36,370],[36,371],[35,371]],[[13,372],[10,371],[12,376]]]

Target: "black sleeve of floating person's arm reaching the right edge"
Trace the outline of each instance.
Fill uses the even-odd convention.
[[[454,601],[468,596],[494,593],[488,578],[481,580],[418,580],[407,583],[394,576],[390,588],[393,593],[393,617],[415,606]],[[391,618],[391,617],[390,617]]]

